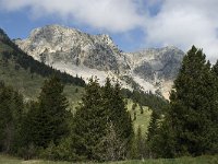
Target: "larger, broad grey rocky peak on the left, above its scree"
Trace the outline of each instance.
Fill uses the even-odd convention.
[[[48,65],[70,62],[90,69],[124,71],[124,56],[108,35],[89,35],[74,28],[50,25],[32,31],[16,44],[36,60]]]

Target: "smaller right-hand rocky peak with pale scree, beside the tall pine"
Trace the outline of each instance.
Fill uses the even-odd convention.
[[[177,47],[149,48],[125,54],[130,61],[132,78],[142,87],[152,85],[152,91],[169,96],[184,52]]]

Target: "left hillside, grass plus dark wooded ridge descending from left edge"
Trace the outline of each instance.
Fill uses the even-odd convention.
[[[26,55],[0,30],[0,81],[12,85],[28,99],[37,97],[44,81],[52,74],[58,74],[66,85],[65,94],[85,85],[82,79],[73,78]]]

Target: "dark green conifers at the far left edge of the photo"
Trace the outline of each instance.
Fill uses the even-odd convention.
[[[0,83],[0,151],[12,152],[21,138],[23,97],[12,87]]]

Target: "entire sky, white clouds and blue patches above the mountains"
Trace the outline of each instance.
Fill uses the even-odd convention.
[[[26,38],[49,24],[109,34],[120,49],[203,48],[218,59],[218,0],[0,0],[0,27]]]

